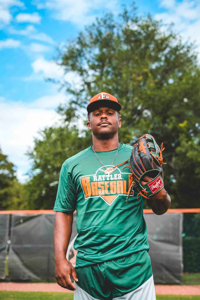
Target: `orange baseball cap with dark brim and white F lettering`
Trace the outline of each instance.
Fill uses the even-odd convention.
[[[117,99],[105,92],[101,92],[90,99],[90,102],[87,106],[88,114],[100,106],[114,108],[118,111],[121,110],[121,104],[117,101]]]

